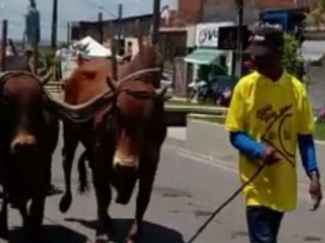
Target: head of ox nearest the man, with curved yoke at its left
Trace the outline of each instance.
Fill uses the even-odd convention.
[[[128,203],[141,168],[143,151],[156,156],[156,150],[165,139],[164,92],[155,91],[147,82],[131,80],[108,88],[80,105],[59,102],[49,96],[51,106],[66,121],[83,123],[95,117],[99,147],[105,154],[110,151],[107,163],[112,163],[115,172],[117,203]],[[107,119],[102,111],[107,112]]]

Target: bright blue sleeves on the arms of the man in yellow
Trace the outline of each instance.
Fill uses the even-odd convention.
[[[243,132],[230,134],[232,145],[251,159],[259,159],[265,150],[265,145],[251,139]],[[298,145],[302,164],[307,174],[317,170],[315,145],[312,135],[298,135]]]

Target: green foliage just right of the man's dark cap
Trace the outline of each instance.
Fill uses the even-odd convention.
[[[302,80],[304,76],[304,62],[298,54],[299,48],[300,43],[294,35],[286,34],[284,36],[282,65],[287,72]]]

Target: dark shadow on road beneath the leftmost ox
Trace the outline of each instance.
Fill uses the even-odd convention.
[[[86,243],[87,237],[57,225],[42,226],[38,234],[27,233],[22,228],[10,231],[8,243]]]

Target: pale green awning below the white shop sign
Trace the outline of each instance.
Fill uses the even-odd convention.
[[[218,57],[222,55],[225,55],[225,53],[216,49],[197,49],[187,55],[184,61],[200,65],[219,64]]]

